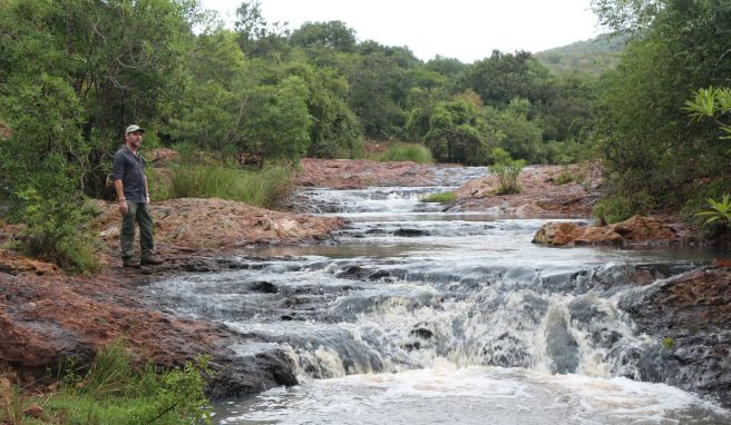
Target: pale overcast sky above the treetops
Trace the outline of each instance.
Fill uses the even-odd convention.
[[[601,32],[591,0],[261,0],[269,22],[291,29],[305,21],[341,20],[359,41],[408,46],[423,60],[436,55],[472,62],[503,51],[533,52]],[[227,21],[238,1],[203,0]]]

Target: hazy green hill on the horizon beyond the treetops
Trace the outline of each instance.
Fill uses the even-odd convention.
[[[601,34],[589,40],[540,51],[534,55],[554,72],[583,71],[598,75],[617,63],[626,37]]]

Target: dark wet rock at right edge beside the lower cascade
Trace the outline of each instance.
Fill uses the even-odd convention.
[[[731,269],[659,280],[624,295],[620,307],[639,332],[665,343],[642,354],[643,378],[712,394],[731,406]]]

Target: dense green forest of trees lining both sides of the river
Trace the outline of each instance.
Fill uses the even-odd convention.
[[[27,226],[26,251],[88,269],[85,200],[108,196],[111,155],[136,122],[145,149],[256,156],[267,165],[254,172],[276,179],[271,167],[363,158],[370,141],[462,165],[592,161],[602,220],[698,220],[729,191],[731,3],[593,9],[623,47],[567,66],[528,51],[422,61],[345,22],[269,22],[255,0],[233,29],[195,0],[1,1],[0,212]]]

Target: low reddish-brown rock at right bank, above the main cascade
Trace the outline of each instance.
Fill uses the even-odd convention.
[[[607,226],[582,226],[576,223],[547,223],[538,229],[534,244],[565,245],[674,245],[692,244],[694,239],[679,236],[682,225],[666,218],[634,216]],[[688,229],[683,235],[688,234]]]

